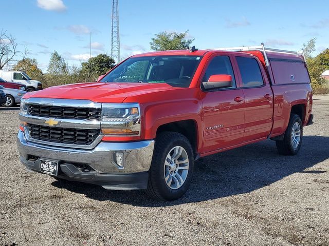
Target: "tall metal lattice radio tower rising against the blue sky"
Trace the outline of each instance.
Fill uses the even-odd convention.
[[[112,0],[111,57],[120,63],[120,34],[118,0]]]

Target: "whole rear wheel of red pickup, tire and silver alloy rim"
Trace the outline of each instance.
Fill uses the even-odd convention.
[[[296,155],[302,145],[302,140],[302,120],[297,114],[291,114],[283,140],[276,141],[277,149],[279,153],[283,155]]]

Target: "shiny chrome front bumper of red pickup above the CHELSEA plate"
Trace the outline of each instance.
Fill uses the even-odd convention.
[[[38,159],[57,160],[59,163],[86,165],[99,174],[129,174],[149,171],[154,140],[100,142],[94,149],[84,150],[46,146],[30,142],[27,141],[24,133],[19,131],[17,134],[17,146],[21,160],[27,168],[29,168],[27,165],[29,159],[36,157]],[[123,152],[123,168],[116,165],[114,160],[115,152]]]

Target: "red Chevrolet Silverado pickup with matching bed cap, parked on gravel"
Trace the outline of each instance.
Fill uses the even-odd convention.
[[[28,171],[181,197],[199,157],[276,141],[295,155],[312,124],[303,55],[241,47],[134,55],[97,83],[24,95],[17,144]]]

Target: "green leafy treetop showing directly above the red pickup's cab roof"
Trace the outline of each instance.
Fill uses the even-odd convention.
[[[186,50],[191,48],[194,39],[187,39],[187,33],[160,32],[155,34],[150,43],[152,50]]]

